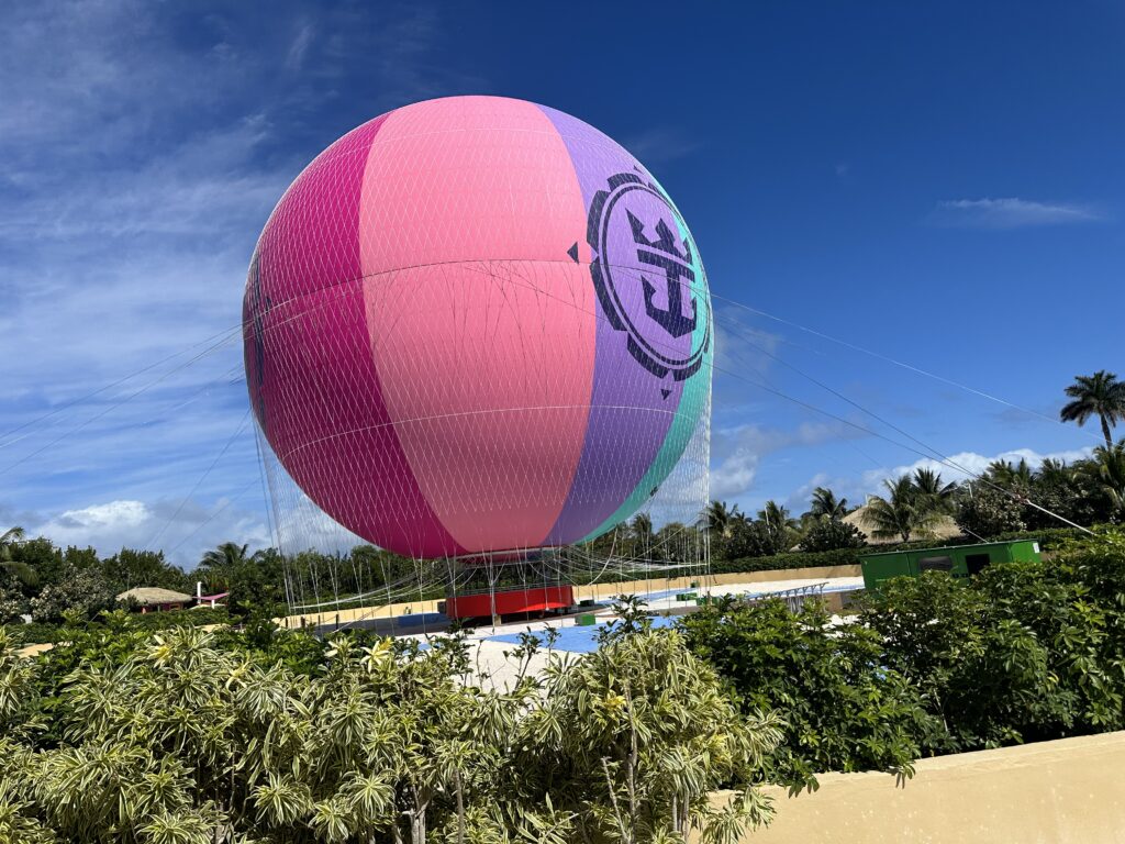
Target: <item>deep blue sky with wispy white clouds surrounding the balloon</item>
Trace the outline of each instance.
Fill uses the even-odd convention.
[[[854,425],[975,468],[1097,442],[820,334],[1045,416],[1125,370],[1118,3],[102,0],[0,32],[0,526],[268,542],[249,255],[317,152],[436,96],[569,111],[676,199],[722,297],[712,492],[744,508],[926,451]]]

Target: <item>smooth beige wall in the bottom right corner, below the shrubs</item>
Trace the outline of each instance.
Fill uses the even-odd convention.
[[[824,774],[753,844],[1110,844],[1125,842],[1125,733],[921,760],[896,787],[881,773]]]

